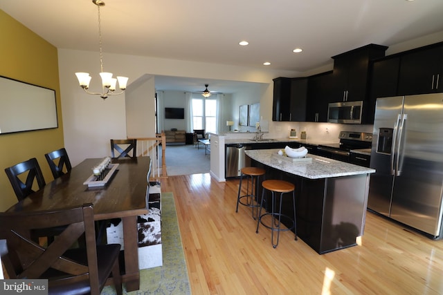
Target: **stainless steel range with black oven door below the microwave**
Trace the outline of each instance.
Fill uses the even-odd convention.
[[[320,144],[318,145],[318,155],[323,157],[351,163],[351,151],[370,149],[372,145],[372,133],[341,131],[338,135],[340,143],[338,144]],[[361,155],[370,157],[369,155]],[[357,164],[357,163],[354,163]],[[369,164],[369,160],[368,160]]]

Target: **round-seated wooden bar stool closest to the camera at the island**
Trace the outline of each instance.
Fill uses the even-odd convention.
[[[262,182],[262,202],[260,202],[260,211],[258,213],[258,218],[257,218],[257,231],[255,231],[258,234],[258,227],[260,225],[260,223],[262,223],[262,225],[264,225],[264,227],[271,229],[271,243],[272,243],[272,247],[275,249],[278,245],[278,240],[280,238],[280,231],[289,231],[291,229],[294,229],[294,234],[296,234],[296,238],[295,240],[297,240],[297,225],[296,225],[296,196],[294,193],[294,190],[296,189],[296,186],[294,184],[292,184],[291,182],[287,182],[284,180],[264,180],[264,182]],[[266,212],[264,214],[262,214],[262,207],[263,207],[263,202],[266,202],[264,200],[264,190],[267,189],[268,191],[271,191],[272,194],[272,198],[271,198],[271,202],[272,202],[272,209],[271,212]],[[282,214],[282,200],[283,200],[283,193],[291,193],[292,192],[292,204],[293,204],[293,219],[291,219],[289,216]],[[280,193],[280,208],[278,209],[278,211],[275,211],[275,193]],[[262,221],[262,218],[264,216],[271,216],[271,225],[266,225],[264,224],[264,222]],[[292,226],[291,227],[287,227],[287,228],[280,228],[280,222],[281,222],[281,218],[282,216],[284,218],[288,218],[289,220],[292,221]],[[276,222],[278,218],[278,222]],[[277,231],[277,242],[274,243],[274,231]]]

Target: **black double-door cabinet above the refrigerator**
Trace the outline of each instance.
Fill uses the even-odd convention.
[[[401,55],[398,95],[443,92],[443,44]]]

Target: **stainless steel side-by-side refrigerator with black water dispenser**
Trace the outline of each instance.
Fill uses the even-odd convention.
[[[377,99],[368,208],[442,238],[443,93]]]

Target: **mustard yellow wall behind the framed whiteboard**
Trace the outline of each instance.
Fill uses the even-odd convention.
[[[6,211],[17,202],[17,198],[4,169],[29,158],[37,158],[46,183],[51,182],[53,176],[44,154],[60,149],[64,141],[57,48],[3,10],[0,10],[0,32],[0,75],[54,89],[58,115],[57,129],[0,135],[0,211]]]

